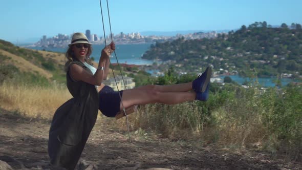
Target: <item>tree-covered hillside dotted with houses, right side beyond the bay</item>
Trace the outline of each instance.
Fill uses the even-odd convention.
[[[302,75],[302,29],[293,24],[281,28],[268,27],[266,22],[242,26],[238,31],[218,34],[217,38],[156,43],[143,55],[144,59],[165,61],[179,72],[196,72],[212,65],[215,71],[260,77],[290,74]],[[163,68],[167,68],[166,66]]]

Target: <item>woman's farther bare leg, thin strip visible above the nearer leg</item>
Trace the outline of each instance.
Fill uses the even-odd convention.
[[[172,84],[172,85],[146,85],[135,88],[138,90],[155,90],[158,92],[188,92],[192,90],[192,82]]]

